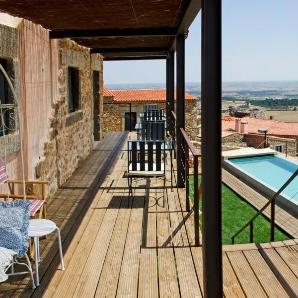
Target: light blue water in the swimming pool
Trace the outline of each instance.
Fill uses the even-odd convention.
[[[234,166],[278,191],[298,169],[298,164],[277,155],[229,158]],[[282,192],[298,205],[298,176]]]

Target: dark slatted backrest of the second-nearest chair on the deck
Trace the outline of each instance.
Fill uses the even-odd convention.
[[[164,121],[148,121],[142,123],[141,140],[157,141],[164,140],[165,122]]]

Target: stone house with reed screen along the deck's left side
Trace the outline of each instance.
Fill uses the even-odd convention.
[[[0,63],[20,102],[25,178],[50,181],[49,196],[102,138],[103,59],[70,39],[50,39],[49,30],[28,20],[5,14],[4,24],[2,15]],[[11,102],[2,73],[0,81],[1,100]],[[19,179],[18,129],[7,125],[7,171]],[[0,158],[3,145],[1,135]]]

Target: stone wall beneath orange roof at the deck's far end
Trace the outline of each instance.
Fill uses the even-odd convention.
[[[148,102],[148,104],[154,102]],[[165,102],[158,102],[158,109],[166,113]],[[113,96],[104,96],[103,99],[103,130],[124,131],[125,113],[129,113],[129,103],[114,102]],[[176,111],[176,103],[175,103]],[[136,113],[136,122],[141,122],[140,113],[144,112],[144,103],[132,103],[132,113]],[[185,101],[185,131],[191,140],[197,140],[197,113],[196,101]]]

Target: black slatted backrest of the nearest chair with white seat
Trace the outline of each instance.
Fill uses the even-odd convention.
[[[130,170],[165,173],[164,141],[128,141],[128,171]]]

